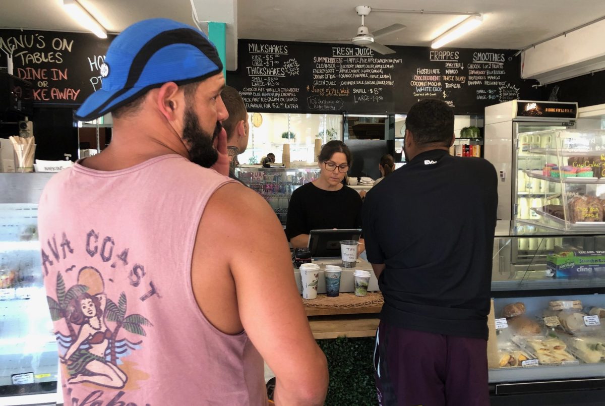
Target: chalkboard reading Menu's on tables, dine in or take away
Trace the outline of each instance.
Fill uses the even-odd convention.
[[[0,30],[0,48],[13,54],[13,74],[32,83],[34,103],[79,105],[101,87],[99,68],[114,37]],[[6,59],[0,52],[0,66]]]

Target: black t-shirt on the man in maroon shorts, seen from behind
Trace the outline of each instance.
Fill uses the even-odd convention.
[[[485,159],[435,149],[370,189],[362,218],[368,260],[385,264],[381,319],[488,338],[497,182]]]

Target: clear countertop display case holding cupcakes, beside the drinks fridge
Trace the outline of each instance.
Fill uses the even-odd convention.
[[[535,131],[522,143],[532,165],[517,178],[516,218],[564,231],[604,229],[605,131]]]

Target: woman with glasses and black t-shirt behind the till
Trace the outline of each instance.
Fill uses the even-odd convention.
[[[361,197],[342,184],[351,166],[351,151],[342,141],[330,141],[318,156],[319,178],[302,185],[290,197],[286,236],[292,247],[306,247],[309,232],[321,229],[361,228]],[[360,253],[365,249],[359,239]]]

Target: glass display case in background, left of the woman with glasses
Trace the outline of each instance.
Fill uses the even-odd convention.
[[[317,165],[317,164],[314,164]],[[290,196],[305,183],[319,177],[319,167],[313,168],[235,168],[235,176],[267,200],[283,226],[286,225]]]

